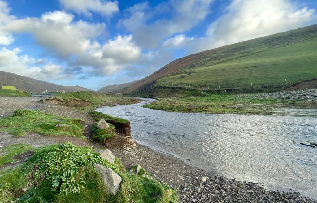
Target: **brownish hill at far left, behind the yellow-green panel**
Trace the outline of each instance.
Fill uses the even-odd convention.
[[[0,71],[0,88],[2,85],[16,86],[16,89],[23,89],[28,92],[41,93],[44,91],[59,91],[65,90],[66,92],[75,91],[91,91],[81,86],[62,86],[54,83],[37,80],[14,73],[7,73]]]

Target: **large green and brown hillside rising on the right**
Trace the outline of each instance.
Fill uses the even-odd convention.
[[[130,92],[162,85],[212,89],[289,86],[317,78],[317,25],[268,35],[177,59],[130,86]],[[286,79],[286,84],[284,83]],[[219,88],[220,87],[220,88]]]

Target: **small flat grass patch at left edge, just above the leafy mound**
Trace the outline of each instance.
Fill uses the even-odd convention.
[[[11,144],[9,146],[5,146],[0,148],[0,167],[6,163],[15,162],[16,160],[13,159],[15,155],[22,154],[23,152],[29,151],[34,149],[29,144],[18,143],[18,144]]]

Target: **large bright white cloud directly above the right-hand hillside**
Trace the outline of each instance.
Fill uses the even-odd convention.
[[[316,19],[314,12],[287,0],[233,0],[209,25],[200,50],[297,28]]]

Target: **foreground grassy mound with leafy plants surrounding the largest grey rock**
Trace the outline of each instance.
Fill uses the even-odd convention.
[[[118,162],[118,160],[116,161]],[[114,196],[93,167],[93,163],[120,175],[120,190]],[[2,172],[0,202],[26,203],[175,203],[177,194],[152,178],[127,173],[90,148],[71,143],[48,145],[35,150],[23,165]]]

